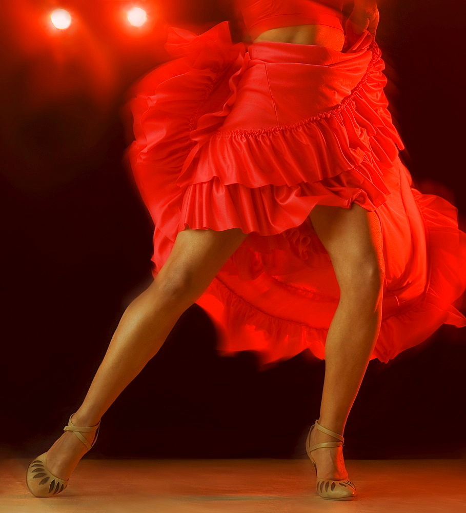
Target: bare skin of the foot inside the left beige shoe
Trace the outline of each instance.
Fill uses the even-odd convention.
[[[87,426],[82,423],[76,413],[71,417],[75,426]],[[89,443],[92,443],[96,431],[81,433]],[[65,431],[63,435],[47,451],[47,467],[57,478],[67,480],[70,478],[79,460],[86,454],[87,447],[80,441],[74,432]]]

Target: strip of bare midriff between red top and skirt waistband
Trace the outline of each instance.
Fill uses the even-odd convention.
[[[259,41],[327,46],[341,52],[345,44],[345,34],[342,30],[328,25],[294,25],[266,30],[255,38],[254,43]]]

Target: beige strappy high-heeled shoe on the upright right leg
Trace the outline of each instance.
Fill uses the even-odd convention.
[[[316,427],[319,431],[322,431],[322,433],[327,433],[327,435],[337,438],[340,441],[322,442],[320,444],[314,444],[312,447],[309,447],[311,432],[314,427]],[[315,421],[315,424],[313,424],[309,430],[308,438],[306,439],[306,452],[308,453],[308,456],[314,465],[315,475],[317,478],[317,493],[320,495],[320,497],[322,497],[322,499],[331,499],[334,501],[351,501],[356,495],[356,488],[351,481],[348,481],[348,479],[334,480],[318,478],[316,462],[311,455],[311,451],[315,449],[319,449],[320,447],[341,447],[343,442],[345,442],[345,439],[341,435],[338,435],[338,433],[335,433],[334,431],[321,426],[318,420]]]

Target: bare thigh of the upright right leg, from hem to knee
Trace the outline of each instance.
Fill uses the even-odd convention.
[[[348,274],[373,270],[384,273],[382,232],[376,212],[351,204],[351,208],[316,205],[309,215],[329,253],[338,282]]]

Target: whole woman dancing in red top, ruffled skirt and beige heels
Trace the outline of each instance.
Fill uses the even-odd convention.
[[[238,0],[253,41],[222,22],[171,29],[176,58],[134,87],[128,159],[155,224],[151,285],[130,303],[65,433],[33,460],[37,497],[63,491],[100,420],[193,303],[219,354],[260,369],[325,359],[306,442],[322,498],[350,500],[343,431],[371,359],[443,323],[466,288],[456,209],[413,188],[383,93],[375,0]],[[69,432],[73,431],[73,432]]]

